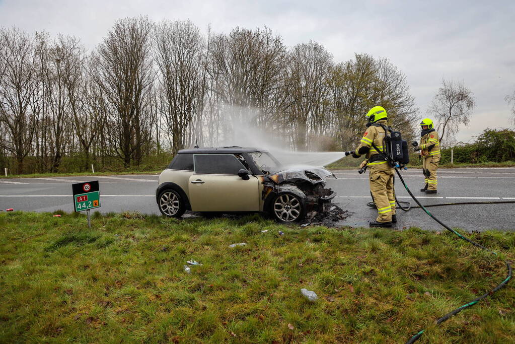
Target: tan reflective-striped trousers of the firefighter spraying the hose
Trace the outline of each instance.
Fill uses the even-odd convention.
[[[370,169],[370,194],[377,207],[377,222],[389,222],[395,215],[395,196],[393,189],[393,168],[387,170]]]

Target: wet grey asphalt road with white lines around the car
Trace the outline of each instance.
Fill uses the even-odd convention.
[[[375,210],[367,207],[371,200],[368,173],[359,175],[352,170],[334,171],[337,180],[329,179],[328,187],[337,192],[335,203],[352,216],[339,224],[362,227],[375,219]],[[515,201],[515,168],[460,168],[438,170],[438,194],[420,193],[424,178],[420,169],[402,171],[408,187],[419,196],[422,204],[473,201]],[[139,211],[159,214],[155,191],[157,175],[92,176],[64,178],[0,179],[0,209],[52,212],[73,212],[72,183],[98,180],[99,210],[102,213]],[[399,200],[414,201],[397,182]],[[483,231],[487,229],[515,230],[515,203],[471,204],[428,208],[451,227]],[[441,230],[442,227],[421,209],[409,212],[398,210],[396,228],[420,227]]]

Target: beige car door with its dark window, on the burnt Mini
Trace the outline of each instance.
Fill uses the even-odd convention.
[[[233,154],[195,154],[195,174],[188,190],[193,211],[244,212],[260,210],[259,180],[238,176],[245,166]]]

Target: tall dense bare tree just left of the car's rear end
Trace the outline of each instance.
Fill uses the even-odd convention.
[[[118,21],[92,57],[91,75],[105,118],[106,139],[125,167],[141,163],[151,143],[152,24],[147,18]]]

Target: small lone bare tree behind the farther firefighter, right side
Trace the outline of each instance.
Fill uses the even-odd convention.
[[[453,141],[460,125],[469,125],[470,114],[476,107],[474,95],[463,81],[442,79],[442,87],[433,98],[427,113],[436,118],[440,143]]]

